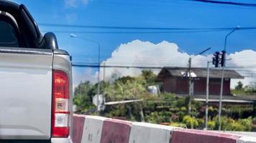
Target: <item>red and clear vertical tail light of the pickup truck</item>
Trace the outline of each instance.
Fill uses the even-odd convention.
[[[70,130],[68,76],[64,71],[52,72],[52,137],[68,137]]]

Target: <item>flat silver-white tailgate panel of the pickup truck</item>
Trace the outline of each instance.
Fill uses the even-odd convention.
[[[0,139],[50,139],[53,54],[31,51],[0,49]]]

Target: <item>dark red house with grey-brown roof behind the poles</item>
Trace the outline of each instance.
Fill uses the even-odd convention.
[[[175,94],[188,94],[188,78],[184,75],[188,68],[183,67],[164,67],[157,75],[157,80],[163,82],[163,92]],[[191,68],[193,77],[193,94],[206,94],[207,69]],[[210,69],[209,72],[209,94],[219,95],[221,87],[221,69]],[[244,79],[237,71],[224,70],[223,94],[231,95],[230,79]]]

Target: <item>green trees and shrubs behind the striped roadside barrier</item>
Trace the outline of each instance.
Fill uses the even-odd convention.
[[[204,129],[205,104],[192,102],[191,114],[187,114],[187,97],[175,94],[150,94],[147,87],[158,85],[152,71],[142,71],[138,77],[121,77],[114,82],[101,82],[100,91],[106,102],[142,99],[141,102],[113,104],[105,106],[104,111],[96,112],[92,103],[97,94],[98,84],[81,82],[75,89],[73,99],[78,114],[100,114],[104,117],[127,119],[137,122],[150,122],[190,129]],[[239,83],[235,91],[244,90]],[[256,116],[252,105],[224,104],[221,129],[227,131],[255,131]],[[209,129],[218,129],[218,106],[209,105]]]

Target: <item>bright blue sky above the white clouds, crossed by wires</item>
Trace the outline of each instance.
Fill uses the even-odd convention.
[[[37,23],[79,24],[96,26],[141,27],[236,27],[256,26],[256,7],[202,4],[181,0],[15,0],[25,4]],[[228,0],[225,0],[228,1]],[[232,0],[235,1],[235,0]],[[240,0],[242,3],[255,1]],[[42,31],[114,31],[76,29],[40,25]],[[117,30],[121,31],[121,30]],[[125,31],[125,30],[123,30]],[[229,31],[182,34],[77,34],[101,44],[101,61],[111,57],[120,45],[140,39],[157,44],[169,41],[188,54],[212,47],[208,54],[220,51]],[[96,44],[56,33],[59,46],[73,56],[73,61],[97,62]],[[256,30],[236,31],[229,37],[227,51],[256,49]],[[140,47],[138,47],[140,48]]]

